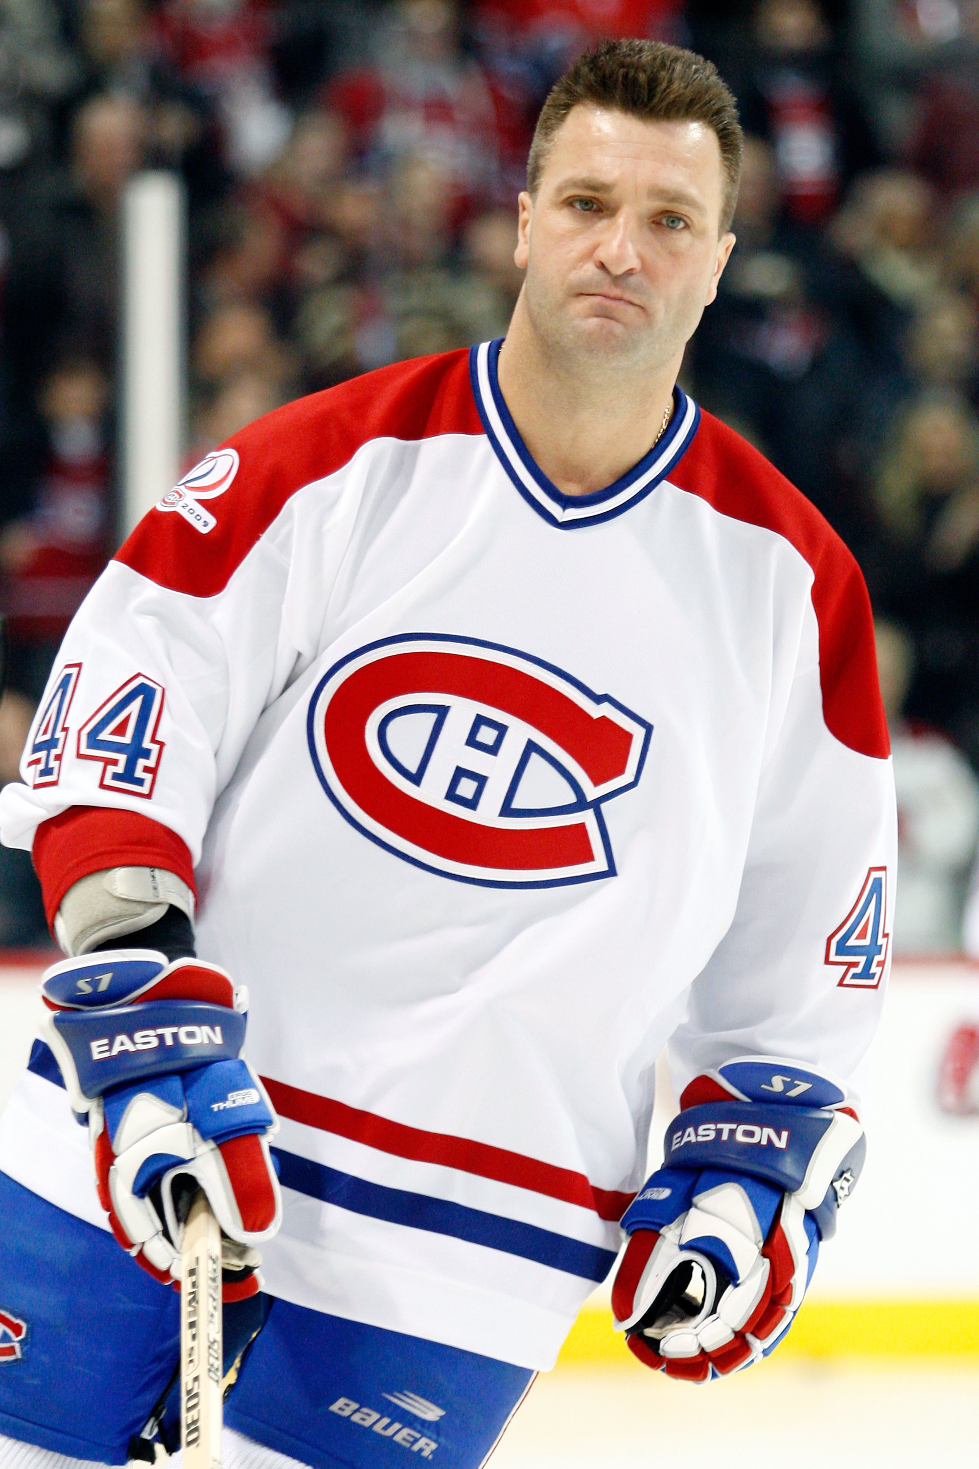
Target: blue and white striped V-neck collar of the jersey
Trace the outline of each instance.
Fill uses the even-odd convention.
[[[499,336],[496,341],[470,348],[473,397],[501,464],[524,499],[552,526],[574,530],[575,526],[594,526],[602,520],[611,520],[612,516],[621,516],[630,505],[649,495],[690,448],[700,423],[700,408],[683,388],[675,388],[675,408],[669,426],[638,464],[614,485],[596,489],[592,495],[562,495],[534,464],[503,403],[496,379],[502,345],[503,339]]]

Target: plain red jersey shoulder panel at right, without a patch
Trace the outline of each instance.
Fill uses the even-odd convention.
[[[891,752],[881,702],[873,614],[863,573],[837,532],[751,444],[703,413],[693,444],[669,476],[722,516],[784,536],[813,571],[819,682],[826,729],[879,759]]]

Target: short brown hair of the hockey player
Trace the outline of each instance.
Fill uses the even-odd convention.
[[[647,122],[702,122],[721,144],[725,190],[721,229],[734,219],[744,134],[731,90],[713,62],[662,41],[600,41],[559,76],[540,109],[527,157],[527,188],[537,192],[550,144],[572,107],[612,107]]]

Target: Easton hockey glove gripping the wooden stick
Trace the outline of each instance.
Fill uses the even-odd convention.
[[[179,1288],[200,1185],[222,1227],[225,1300],[258,1291],[254,1246],[282,1213],[267,1141],[277,1122],[239,1056],[242,992],[214,964],[116,949],[51,965],[41,993],[43,1036],[88,1119],[98,1199],[119,1243]]]

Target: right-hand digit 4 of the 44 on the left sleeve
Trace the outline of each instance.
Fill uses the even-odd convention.
[[[153,795],[163,740],[156,737],[163,689],[144,673],[116,689],[78,732],[79,759],[101,762],[98,784],[129,796]]]

